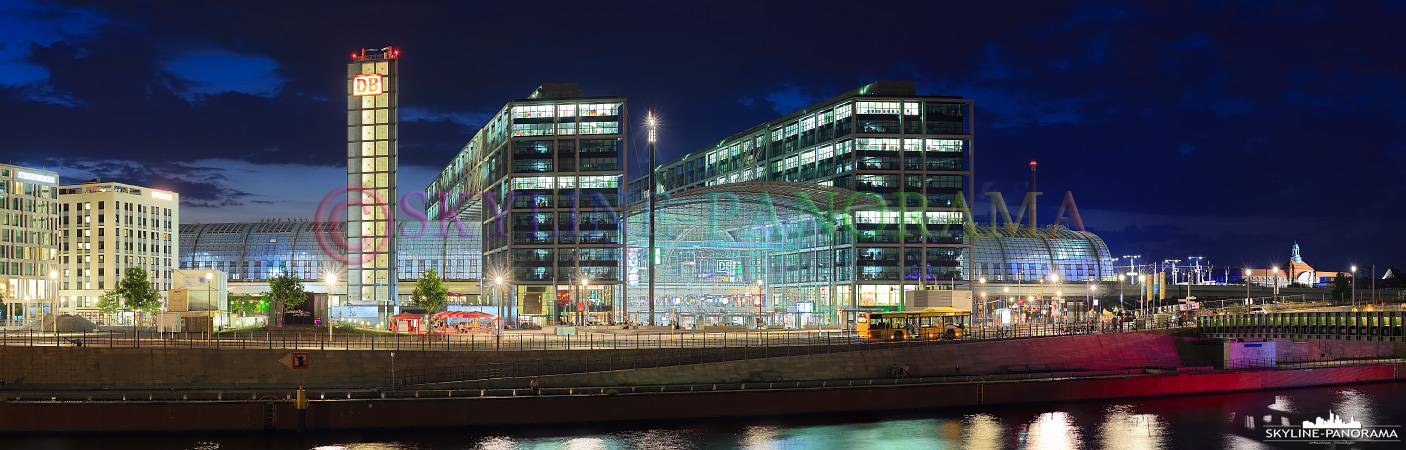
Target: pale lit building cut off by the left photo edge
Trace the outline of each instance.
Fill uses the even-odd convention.
[[[58,184],[53,172],[0,165],[0,298],[7,321],[56,311]]]

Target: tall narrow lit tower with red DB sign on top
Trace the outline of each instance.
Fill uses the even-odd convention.
[[[401,51],[361,49],[347,63],[347,302],[398,308],[395,276],[396,103]]]

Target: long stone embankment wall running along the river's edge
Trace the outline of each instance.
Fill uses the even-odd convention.
[[[1327,359],[1402,354],[1402,345],[1374,342],[1278,343],[1281,357]],[[278,363],[292,350],[240,349],[107,349],[107,347],[0,347],[0,378],[7,390],[257,390],[285,388],[299,382],[319,390],[380,388],[388,370],[474,370],[513,363],[520,368],[538,361],[631,367],[624,361],[669,359],[707,360],[723,353],[737,357],[742,349],[631,349],[536,352],[436,352],[436,350],[307,350],[311,368],[290,370]],[[755,357],[761,349],[748,352]],[[395,353],[392,357],[391,354]],[[862,380],[887,377],[893,364],[908,364],[912,377],[980,375],[1007,371],[1108,370],[1121,367],[1201,366],[1220,354],[1219,340],[1116,333],[953,342],[869,352],[821,353],[658,368],[610,370],[589,374],[547,375],[544,385],[648,385],[738,381]],[[713,359],[717,360],[717,359]],[[609,364],[602,364],[609,363]],[[610,366],[613,364],[613,366]],[[1056,367],[1040,367],[1053,364]],[[498,366],[502,367],[502,366]],[[530,370],[530,368],[527,368]],[[456,382],[456,387],[524,387],[523,378]]]

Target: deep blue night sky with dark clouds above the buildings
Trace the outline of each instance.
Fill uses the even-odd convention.
[[[232,4],[0,1],[3,160],[176,190],[186,222],[311,218],[361,48],[404,51],[402,194],[540,83],[657,108],[665,162],[917,80],[976,100],[979,215],[1033,159],[1040,221],[1073,191],[1114,256],[1406,263],[1406,1]]]

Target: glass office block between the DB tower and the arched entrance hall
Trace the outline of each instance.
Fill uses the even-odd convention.
[[[426,188],[441,232],[477,233],[510,316],[565,321],[576,300],[624,295],[626,100],[541,84],[503,105]]]

